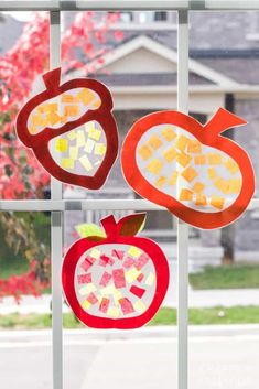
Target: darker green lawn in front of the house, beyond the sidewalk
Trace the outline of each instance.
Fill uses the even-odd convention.
[[[206,267],[202,272],[190,274],[190,283],[193,289],[259,288],[259,264]]]

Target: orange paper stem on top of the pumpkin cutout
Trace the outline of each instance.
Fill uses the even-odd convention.
[[[213,118],[204,126],[207,132],[207,137],[217,137],[220,132],[224,132],[233,127],[247,125],[247,121],[238,116],[229,112],[224,108],[219,108]]]

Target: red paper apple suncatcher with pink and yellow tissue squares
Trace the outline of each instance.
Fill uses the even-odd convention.
[[[116,223],[108,216],[100,220],[106,237],[82,238],[66,252],[63,290],[73,312],[87,326],[138,328],[159,310],[169,285],[166,258],[154,241],[128,235],[129,230],[137,233],[144,218],[145,214],[133,214]],[[122,253],[134,259],[131,267],[123,268]],[[111,256],[114,262],[107,261],[104,268],[100,258]],[[138,260],[141,270],[134,266]],[[86,272],[91,282],[89,275],[84,277]]]

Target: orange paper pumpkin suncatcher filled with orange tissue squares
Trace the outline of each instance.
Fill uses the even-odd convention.
[[[122,145],[125,177],[142,197],[190,225],[224,227],[244,213],[255,192],[248,154],[220,134],[245,123],[223,108],[205,126],[179,111],[148,115]]]

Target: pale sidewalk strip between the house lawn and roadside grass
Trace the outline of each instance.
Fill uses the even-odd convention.
[[[176,307],[176,291],[168,291],[163,306]],[[258,305],[259,289],[231,289],[231,290],[188,290],[188,305],[191,307],[235,306],[235,305]],[[0,315],[10,313],[51,313],[51,295],[44,294],[41,298],[26,295],[18,305],[13,298],[4,298],[0,302]],[[63,312],[69,312],[66,304]]]

